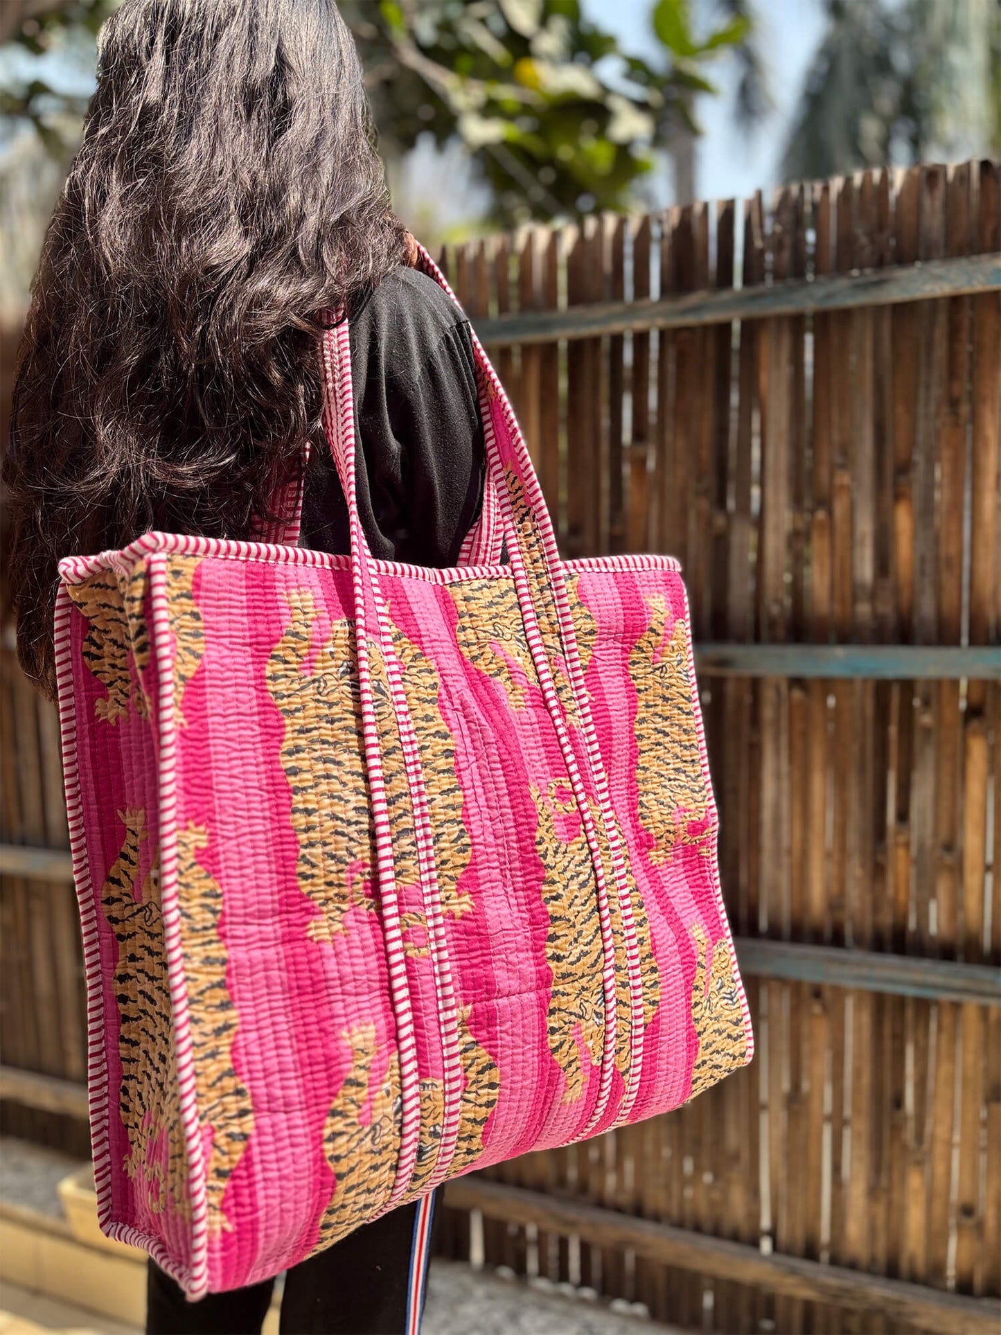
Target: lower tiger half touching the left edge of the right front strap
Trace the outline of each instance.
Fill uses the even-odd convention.
[[[569,782],[553,780],[546,793],[533,788],[531,796],[539,814],[535,849],[546,869],[542,898],[550,924],[546,963],[553,983],[546,1035],[549,1049],[566,1080],[562,1101],[573,1104],[585,1089],[581,1045],[597,1065],[601,1064],[605,1043],[605,956],[594,864]],[[570,837],[561,834],[558,817],[577,817]]]

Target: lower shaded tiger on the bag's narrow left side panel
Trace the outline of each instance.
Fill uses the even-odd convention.
[[[117,943],[113,987],[119,1008],[121,1085],[119,1112],[128,1135],[125,1172],[147,1188],[147,1207],[159,1214],[170,1199],[187,1215],[187,1155],[180,1121],[178,1077],[171,1033],[171,999],[163,944],[163,914],[156,866],[133,886],[140,846],[147,838],[145,812],[119,813],[125,837],[101,886],[101,909]],[[167,1140],[167,1173],[157,1147]]]

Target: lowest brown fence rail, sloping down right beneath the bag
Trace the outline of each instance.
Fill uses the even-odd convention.
[[[647,1260],[754,1284],[785,1298],[880,1312],[922,1331],[997,1335],[1001,1322],[1001,1303],[994,1299],[965,1298],[802,1256],[765,1254],[747,1243],[711,1238],[476,1175],[450,1181],[444,1203],[455,1210],[479,1210],[488,1219],[510,1224],[535,1224],[546,1234],[581,1238],[593,1247],[629,1248]]]

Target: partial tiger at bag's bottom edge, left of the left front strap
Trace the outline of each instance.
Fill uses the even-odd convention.
[[[399,1153],[402,1103],[395,1052],[374,1080],[375,1025],[344,1033],[351,1067],[323,1128],[323,1149],[335,1177],[334,1195],[320,1220],[315,1251],[363,1224],[386,1203]]]

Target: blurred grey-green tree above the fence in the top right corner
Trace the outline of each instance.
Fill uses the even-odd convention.
[[[786,180],[1001,150],[998,0],[825,0]]]

